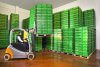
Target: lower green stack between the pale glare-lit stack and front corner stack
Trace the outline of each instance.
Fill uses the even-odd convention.
[[[63,52],[74,54],[74,29],[63,29],[62,32]]]

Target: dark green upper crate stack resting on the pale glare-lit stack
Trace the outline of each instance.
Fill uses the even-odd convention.
[[[53,14],[54,29],[61,29],[61,12]]]

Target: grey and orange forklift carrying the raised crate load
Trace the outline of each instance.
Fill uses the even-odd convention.
[[[13,33],[15,32],[22,33],[23,43],[17,42],[16,37],[15,41],[14,42],[12,41],[12,36]],[[30,30],[29,32],[34,32],[34,30]],[[10,37],[9,37],[10,43],[5,51],[4,60],[8,61],[10,59],[15,59],[15,58],[27,58],[29,60],[33,60],[35,58],[35,54],[32,51],[33,46],[30,44],[28,34],[29,33],[27,33],[24,29],[16,28],[10,31]],[[27,44],[28,46],[27,49],[24,46],[24,44]]]

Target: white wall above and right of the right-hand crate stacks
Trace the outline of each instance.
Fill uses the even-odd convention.
[[[100,50],[100,0],[77,0],[53,9],[53,13],[80,6],[82,10],[95,9],[96,12],[96,48]]]

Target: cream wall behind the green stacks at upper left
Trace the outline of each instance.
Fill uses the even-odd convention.
[[[22,27],[22,20],[29,17],[29,10],[22,9],[18,6],[9,5],[9,4],[2,3],[2,2],[0,2],[0,13],[7,14],[8,19],[10,19],[11,13],[19,14],[20,15],[20,17],[19,17],[19,19],[20,19],[19,27],[20,28]]]

